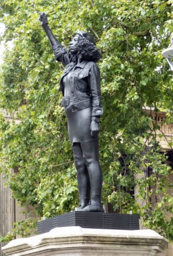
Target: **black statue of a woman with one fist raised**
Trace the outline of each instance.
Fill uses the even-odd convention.
[[[77,169],[80,205],[75,210],[103,212],[102,170],[98,157],[99,118],[103,110],[100,103],[100,73],[96,64],[101,55],[92,35],[84,31],[77,33],[67,52],[52,34],[45,13],[40,13],[39,20],[56,60],[66,66],[60,82],[63,95],[61,105],[66,112]]]

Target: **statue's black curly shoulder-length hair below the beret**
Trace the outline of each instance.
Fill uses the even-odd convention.
[[[77,59],[79,59],[79,62],[82,60],[97,62],[101,58],[101,54],[97,47],[84,37],[78,38],[76,50],[77,53],[75,54],[69,53],[70,59],[73,62],[76,62]]]

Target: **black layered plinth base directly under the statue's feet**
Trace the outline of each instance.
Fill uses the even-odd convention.
[[[101,229],[139,229],[139,216],[128,214],[105,214],[104,212],[73,211],[49,220],[39,221],[38,234],[49,232],[55,227],[80,226]]]

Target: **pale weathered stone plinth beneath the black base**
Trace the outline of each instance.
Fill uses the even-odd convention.
[[[148,256],[161,252],[168,241],[157,232],[144,230],[58,227],[31,238],[11,241],[3,247],[6,255],[104,255]]]

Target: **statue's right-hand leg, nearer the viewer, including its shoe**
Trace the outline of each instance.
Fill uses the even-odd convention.
[[[89,172],[92,191],[91,204],[84,209],[87,211],[103,211],[101,204],[103,175],[99,164],[99,141],[80,143],[80,145]]]

